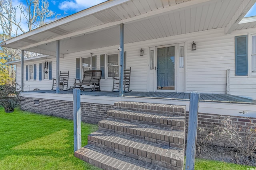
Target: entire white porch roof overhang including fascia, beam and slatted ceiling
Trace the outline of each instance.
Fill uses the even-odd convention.
[[[1,46],[51,56],[56,56],[56,40],[60,41],[60,55],[114,46],[119,45],[120,23],[124,23],[124,43],[227,26],[232,31],[241,29],[237,21],[255,1],[108,0],[9,39]],[[256,27],[256,23],[250,27]]]

